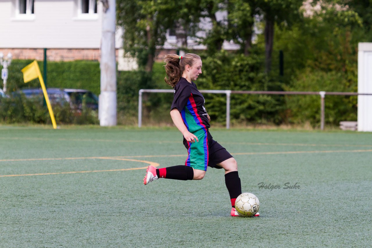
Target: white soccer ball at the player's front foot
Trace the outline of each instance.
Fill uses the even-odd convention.
[[[252,193],[242,193],[235,200],[235,209],[243,217],[252,217],[260,209],[260,201]]]

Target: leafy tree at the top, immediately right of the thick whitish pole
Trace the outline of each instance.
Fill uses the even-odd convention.
[[[155,51],[163,46],[174,23],[176,4],[171,0],[118,0],[118,25],[124,28],[124,51],[151,72]]]

